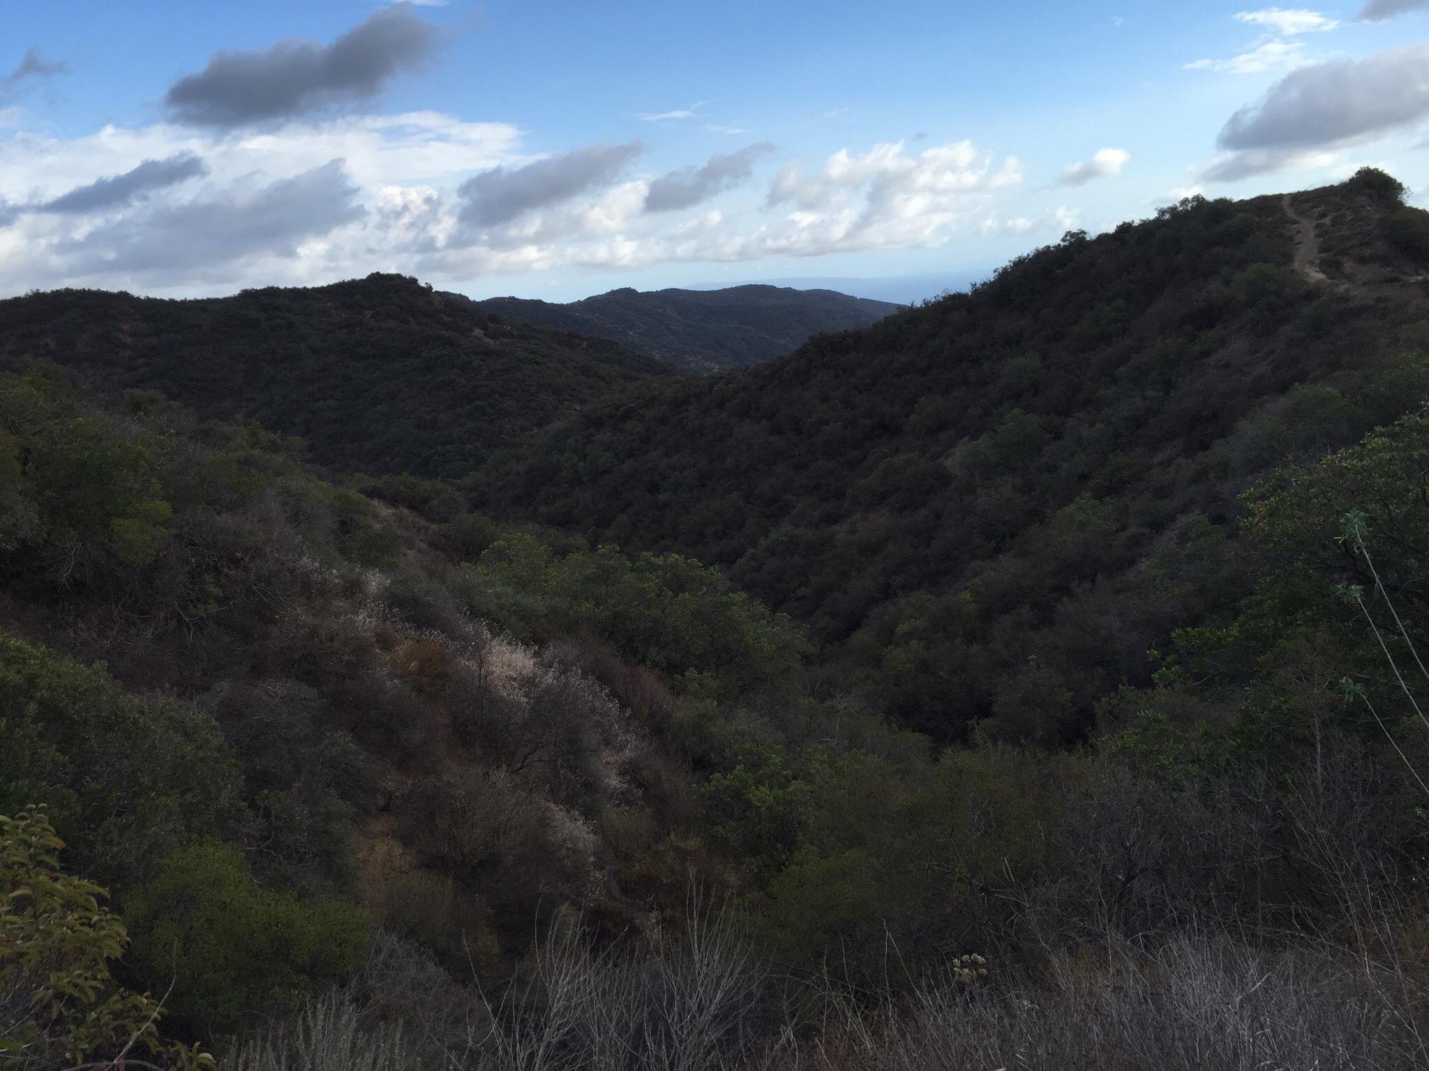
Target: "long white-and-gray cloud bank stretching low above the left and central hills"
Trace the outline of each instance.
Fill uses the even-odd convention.
[[[656,174],[639,141],[544,157],[503,123],[436,111],[249,127],[156,123],[0,134],[0,293],[93,286],[193,296],[373,270],[453,288],[483,274],[733,263],[1049,231],[1016,211],[1015,157],[902,141],[785,161],[765,143]]]

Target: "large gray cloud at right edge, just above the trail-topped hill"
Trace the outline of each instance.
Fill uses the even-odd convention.
[[[1308,150],[1388,134],[1429,116],[1429,44],[1302,67],[1236,111],[1216,139],[1236,151]]]

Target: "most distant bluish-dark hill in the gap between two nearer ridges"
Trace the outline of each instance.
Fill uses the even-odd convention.
[[[899,308],[832,290],[769,286],[644,293],[624,287],[569,304],[519,297],[476,304],[512,320],[613,338],[686,371],[760,364],[812,334],[867,327]]]

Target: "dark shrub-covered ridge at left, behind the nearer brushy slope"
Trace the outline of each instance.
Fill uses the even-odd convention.
[[[0,301],[0,367],[36,357],[109,387],[163,391],[203,417],[254,418],[337,468],[447,476],[670,371],[383,274],[193,301],[97,290]]]

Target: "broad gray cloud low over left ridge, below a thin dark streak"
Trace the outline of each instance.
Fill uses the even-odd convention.
[[[342,160],[257,190],[161,204],[71,238],[73,274],[211,270],[253,256],[293,256],[307,238],[363,216]]]

